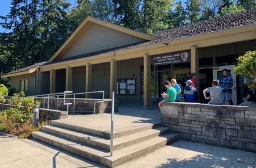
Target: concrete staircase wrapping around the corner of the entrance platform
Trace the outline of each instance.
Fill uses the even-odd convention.
[[[114,133],[114,151],[113,156],[110,156],[110,132],[108,131],[89,129],[54,120],[50,126],[43,126],[42,131],[33,132],[32,136],[33,139],[107,167],[119,166],[180,139],[178,134],[170,133],[168,127],[161,127],[160,122],[148,123]]]

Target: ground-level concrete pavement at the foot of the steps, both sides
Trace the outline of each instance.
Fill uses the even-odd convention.
[[[0,167],[104,167],[37,140],[0,136]],[[176,141],[139,158],[124,167],[256,167],[256,153],[231,150],[207,144]]]

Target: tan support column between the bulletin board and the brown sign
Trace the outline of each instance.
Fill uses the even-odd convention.
[[[148,53],[143,59],[143,109],[151,109],[151,57]]]

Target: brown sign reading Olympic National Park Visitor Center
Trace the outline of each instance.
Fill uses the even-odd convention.
[[[191,61],[190,51],[173,52],[152,57],[152,65],[180,64]]]

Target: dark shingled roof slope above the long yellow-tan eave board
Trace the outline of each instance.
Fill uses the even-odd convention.
[[[206,21],[196,22],[194,24],[183,25],[181,27],[156,32],[155,34],[152,34],[152,35],[155,37],[159,37],[159,39],[155,39],[153,41],[139,42],[136,44],[125,45],[122,47],[110,48],[108,50],[76,55],[75,57],[64,58],[61,60],[47,62],[44,65],[55,64],[57,62],[71,61],[79,58],[91,57],[91,56],[110,53],[110,52],[129,50],[132,48],[144,47],[146,45],[158,44],[161,42],[171,41],[174,39],[193,37],[196,35],[207,34],[210,32],[222,31],[224,29],[231,29],[231,28],[242,27],[242,26],[252,25],[252,24],[256,24],[256,8],[249,9],[243,12],[238,12],[236,14],[225,15],[219,18],[213,18]],[[255,29],[256,29],[256,25],[255,25]]]

